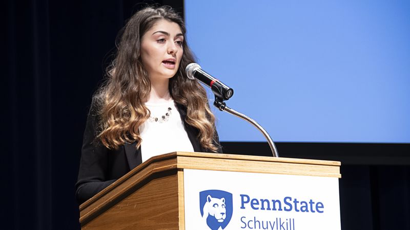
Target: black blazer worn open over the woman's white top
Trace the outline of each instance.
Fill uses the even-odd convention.
[[[197,139],[198,129],[185,121],[187,108],[179,104],[176,107],[194,151],[211,152],[201,147]],[[93,100],[84,131],[78,180],[75,184],[76,198],[79,204],[90,199],[142,163],[141,148],[136,149],[135,142],[120,146],[117,150],[110,150],[98,141],[96,139],[98,120],[97,105]],[[214,144],[219,147],[217,152],[222,152],[217,132],[215,132]]]

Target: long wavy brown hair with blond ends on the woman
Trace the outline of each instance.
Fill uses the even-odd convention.
[[[171,7],[147,7],[138,11],[119,33],[117,52],[107,68],[106,82],[94,96],[99,108],[100,132],[97,138],[109,149],[118,149],[133,142],[138,148],[141,144],[138,127],[150,117],[144,102],[151,90],[150,79],[140,57],[141,38],[160,19],[175,22],[182,34],[186,34],[182,18]],[[200,145],[216,151],[218,147],[213,141],[215,117],[209,108],[207,93],[185,73],[186,66],[195,62],[186,39],[183,39],[182,49],[178,71],[169,81],[170,95],[176,103],[187,107],[186,122],[199,130]]]

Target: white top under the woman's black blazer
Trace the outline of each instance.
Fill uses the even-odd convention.
[[[138,128],[142,138],[142,162],[163,153],[194,151],[174,100],[166,103],[145,103],[145,105],[151,111],[151,117]],[[165,116],[165,119],[162,119],[162,116]]]

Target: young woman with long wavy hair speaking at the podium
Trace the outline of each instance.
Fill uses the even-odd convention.
[[[128,21],[88,115],[79,203],[151,156],[221,152],[206,91],[185,73],[194,62],[185,34],[170,7],[142,9]]]

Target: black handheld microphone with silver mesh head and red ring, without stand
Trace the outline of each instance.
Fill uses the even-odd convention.
[[[187,72],[189,79],[198,79],[200,82],[210,87],[215,94],[215,97],[222,99],[222,101],[228,100],[234,95],[234,90],[232,88],[203,71],[198,63],[190,63],[185,68],[185,71]]]

